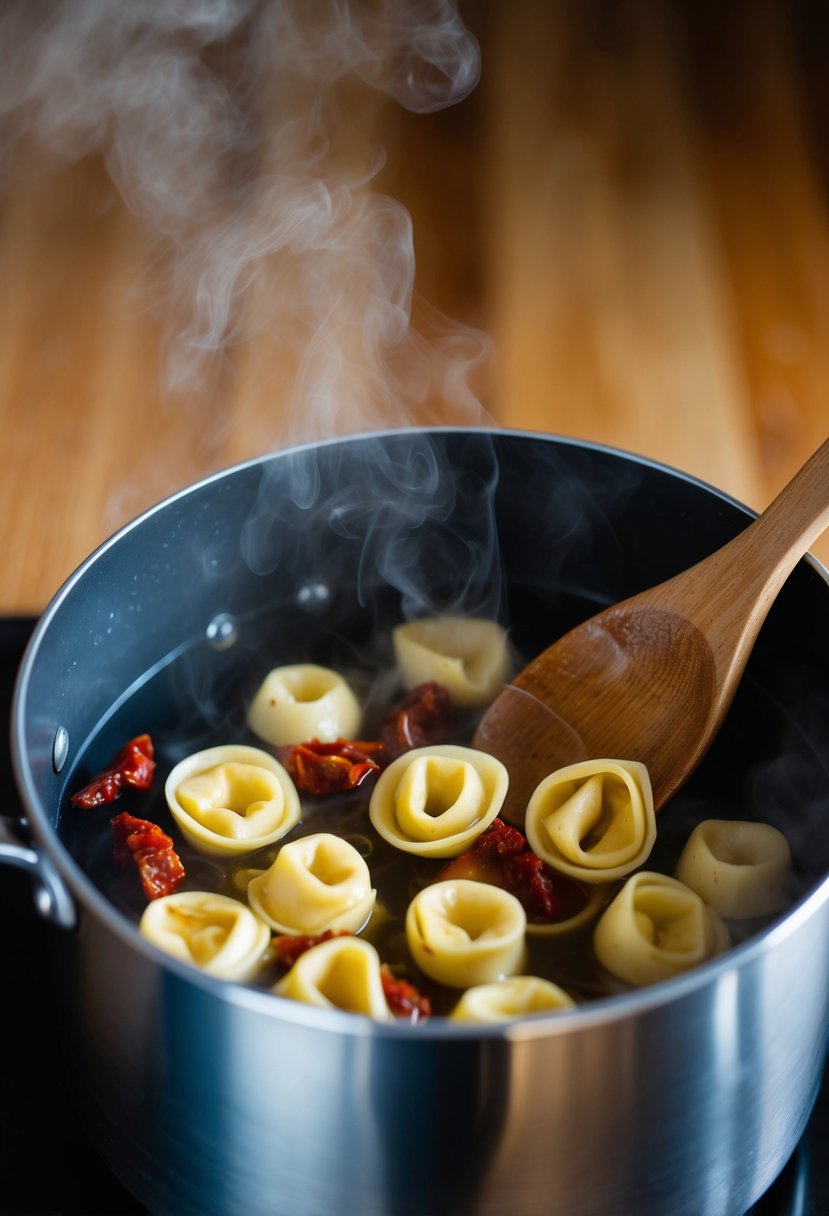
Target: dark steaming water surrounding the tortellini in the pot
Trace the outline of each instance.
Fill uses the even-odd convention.
[[[513,593],[511,640],[517,662],[537,653],[598,607],[571,595],[556,593],[540,606],[536,593]],[[156,747],[157,770],[148,793],[126,790],[118,803],[80,810],[67,803],[60,832],[79,865],[100,890],[137,924],[145,899],[130,867],[119,873],[113,860],[111,818],[119,811],[151,820],[168,832],[186,871],[182,890],[218,890],[243,897],[249,871],[265,869],[278,844],[241,858],[208,858],[181,840],[164,799],[164,782],[171,767],[202,748],[227,743],[264,747],[246,726],[246,709],[266,672],[284,663],[316,662],[343,672],[366,706],[361,737],[377,737],[388,709],[400,697],[390,662],[388,634],[360,636],[357,629],[332,635],[318,623],[303,619],[297,630],[280,623],[278,634],[255,623],[239,631],[238,643],[215,649],[199,642],[147,679],[78,758],[67,783],[79,789],[105,767],[115,751],[135,734],[148,732]],[[468,743],[475,717],[458,720],[458,743]],[[363,935],[380,958],[399,975],[414,983],[446,1013],[458,993],[441,989],[412,964],[406,948],[404,919],[412,895],[434,882],[444,860],[419,858],[400,852],[382,840],[368,818],[373,782],[368,779],[345,794],[303,795],[303,817],[289,839],[315,832],[333,832],[349,840],[365,857],[378,901]],[[795,857],[793,901],[827,868],[825,845],[814,848],[808,824],[819,824],[817,840],[825,839],[829,776],[816,755],[808,731],[793,717],[774,688],[762,682],[762,670],[746,672],[735,704],[711,753],[684,789],[662,809],[658,841],[648,869],[671,873],[695,823],[704,818],[748,818],[772,822],[789,839]],[[608,900],[617,884],[608,888]],[[594,921],[573,933],[553,938],[529,936],[526,974],[559,984],[577,1001],[608,996],[625,989],[597,962],[591,945]],[[732,942],[761,930],[765,922],[733,922]],[[271,986],[280,976],[276,962],[256,981]]]

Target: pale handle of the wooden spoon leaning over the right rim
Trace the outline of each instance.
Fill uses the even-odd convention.
[[[774,597],[829,528],[829,439],[754,523],[655,589],[656,602],[705,635],[721,682],[739,679]]]

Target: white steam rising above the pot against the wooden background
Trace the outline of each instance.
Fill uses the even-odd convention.
[[[486,339],[414,328],[411,220],[371,188],[382,103],[478,80],[455,4],[12,0],[0,46],[2,168],[102,157],[157,250],[171,394],[259,334],[293,366],[283,439],[481,420]]]

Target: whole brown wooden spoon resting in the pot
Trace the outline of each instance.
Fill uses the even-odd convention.
[[[829,440],[745,531],[710,557],[565,634],[508,685],[474,747],[509,772],[520,823],[548,773],[641,760],[656,809],[714,741],[783,582],[829,527]]]

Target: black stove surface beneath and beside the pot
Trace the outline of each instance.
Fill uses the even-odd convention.
[[[33,626],[29,618],[0,619],[4,724]],[[17,817],[5,727],[0,790],[0,812]],[[0,1216],[147,1216],[78,1126],[61,1070],[60,1010],[49,970],[49,935],[60,930],[34,911],[29,878],[7,866],[0,867]],[[750,1216],[827,1216],[828,1135],[829,1083],[824,1083],[795,1154]]]

